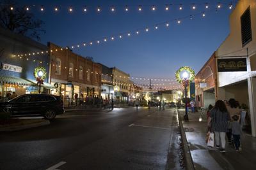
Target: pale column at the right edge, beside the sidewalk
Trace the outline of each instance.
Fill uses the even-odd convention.
[[[256,78],[248,78],[249,108],[252,124],[252,136],[256,137]]]

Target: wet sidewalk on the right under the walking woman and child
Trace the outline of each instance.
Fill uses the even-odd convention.
[[[184,110],[179,110],[183,117]],[[207,133],[206,115],[199,122],[199,113],[189,113],[189,122],[182,121],[189,150],[195,169],[256,169],[256,138],[244,133],[241,139],[241,152],[236,152],[233,145],[226,143],[226,153],[216,148],[209,148],[205,143]]]

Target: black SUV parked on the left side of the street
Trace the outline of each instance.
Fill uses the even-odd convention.
[[[61,97],[51,94],[24,94],[0,103],[0,108],[9,111],[12,117],[42,115],[48,120],[64,113]]]

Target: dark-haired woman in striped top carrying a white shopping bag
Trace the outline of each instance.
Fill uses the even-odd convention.
[[[230,115],[228,114],[226,105],[223,101],[216,101],[214,108],[210,111],[208,118],[208,125],[211,123],[211,130],[214,131],[216,148],[220,148],[220,152],[225,151],[226,132],[228,130],[228,121]]]

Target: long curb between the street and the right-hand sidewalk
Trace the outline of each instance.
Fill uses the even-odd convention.
[[[195,170],[194,162],[191,156],[191,152],[189,149],[188,141],[186,138],[186,133],[184,131],[184,127],[182,124],[182,118],[180,117],[179,110],[177,110],[178,117],[179,117],[179,127],[180,127],[180,136],[182,139],[182,145],[183,145],[183,150],[184,150],[184,159],[185,159],[185,164],[186,164],[186,169],[187,170]]]

